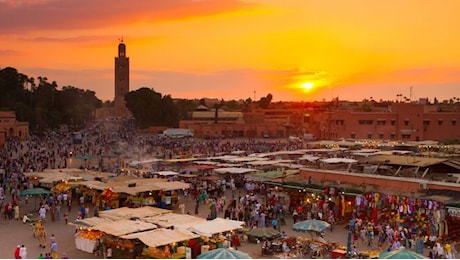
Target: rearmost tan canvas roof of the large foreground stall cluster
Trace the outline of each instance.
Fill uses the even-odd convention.
[[[112,220],[132,218],[141,219],[146,217],[154,217],[166,213],[171,213],[171,210],[145,206],[141,208],[123,207],[118,209],[104,210],[99,212],[99,216],[101,218],[107,218]]]

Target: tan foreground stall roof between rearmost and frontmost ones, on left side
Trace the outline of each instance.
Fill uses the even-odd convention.
[[[157,228],[157,226],[155,224],[139,220],[120,219],[111,223],[96,225],[92,228],[110,235],[122,236],[136,232],[152,230]]]

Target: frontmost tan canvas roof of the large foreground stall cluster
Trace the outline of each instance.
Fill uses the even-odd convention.
[[[149,247],[168,245],[174,242],[197,238],[199,235],[186,230],[159,228],[155,230],[122,236],[124,239],[139,239]]]

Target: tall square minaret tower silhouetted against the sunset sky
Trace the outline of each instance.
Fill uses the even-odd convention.
[[[118,44],[118,57],[115,57],[115,114],[118,117],[128,117],[125,95],[129,92],[129,58],[126,57],[126,45],[123,38]]]

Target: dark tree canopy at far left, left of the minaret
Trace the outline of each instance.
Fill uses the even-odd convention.
[[[15,68],[0,70],[0,110],[15,111],[19,121],[29,122],[32,131],[56,129],[67,125],[79,129],[89,121],[102,101],[94,91],[73,86],[58,89],[46,77],[35,79]]]

